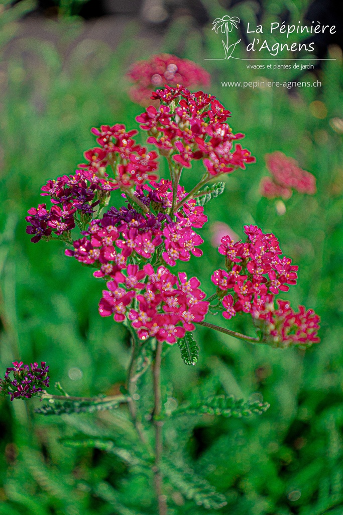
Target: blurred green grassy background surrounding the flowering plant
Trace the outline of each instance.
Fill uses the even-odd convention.
[[[258,75],[291,80],[294,72],[259,74],[247,70],[243,61],[205,61],[221,57],[222,43],[210,30],[211,21],[227,11],[217,2],[204,5],[210,22],[201,30],[191,16],[181,13],[165,30],[151,31],[126,16],[92,22],[76,16],[21,21],[23,12],[31,9],[29,4],[11,10],[0,4],[0,375],[13,359],[22,359],[46,361],[51,385],[61,381],[70,394],[115,394],[124,383],[128,335],[112,318],[98,315],[102,282],[65,258],[62,244],[31,244],[24,218],[41,201],[40,188],[47,179],[72,174],[83,161],[83,151],[95,144],[91,127],[117,122],[137,127],[134,118],[142,108],[130,101],[124,78],[132,62],[159,52],[192,59],[211,73],[210,92],[232,112],[230,125],[246,134],[244,144],[257,163],[227,177],[225,193],[206,205],[204,256],[179,269],[196,274],[210,295],[210,274],[222,266],[211,245],[213,224],[225,222],[240,237],[245,224],[273,231],[283,252],[299,265],[299,282],[288,298],[321,316],[321,343],[307,351],[273,350],[197,329],[201,352],[196,367],[184,365],[176,346],[164,360],[165,397],[179,402],[195,387],[218,381],[228,394],[256,399],[262,395],[271,407],[251,419],[205,416],[190,425],[187,421],[184,426],[167,425],[167,447],[177,450],[184,445],[187,463],[226,495],[228,504],[222,513],[339,515],[343,513],[342,52],[330,46],[329,57],[336,60],[323,61],[318,76],[312,72],[304,76],[311,82],[319,77],[321,88],[290,92],[222,87],[222,81],[256,80]],[[307,7],[304,0],[267,2],[263,23],[283,21],[285,9],[297,23]],[[230,14],[254,21],[255,8],[253,2],[244,2]],[[317,178],[317,194],[294,193],[282,215],[275,201],[259,194],[259,181],[266,175],[263,156],[275,150],[296,158]],[[185,171],[186,188],[196,182],[200,168]],[[161,175],[165,171],[163,164]],[[209,316],[208,320],[254,334],[248,317],[225,322]],[[129,465],[115,455],[70,449],[59,442],[75,433],[104,432],[115,441],[125,433],[120,413],[43,417],[33,413],[38,404],[0,400],[2,515],[155,512],[144,475],[129,474]],[[176,490],[172,499],[170,513],[206,512]]]

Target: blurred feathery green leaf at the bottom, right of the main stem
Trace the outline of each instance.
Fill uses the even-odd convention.
[[[223,494],[217,492],[205,478],[198,476],[185,463],[165,459],[161,465],[163,474],[186,499],[192,499],[198,506],[218,510],[227,504]]]

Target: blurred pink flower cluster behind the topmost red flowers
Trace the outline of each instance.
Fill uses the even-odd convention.
[[[210,75],[204,68],[170,54],[159,54],[134,63],[127,76],[134,82],[130,89],[132,100],[143,106],[149,105],[151,91],[165,84],[184,84],[191,89],[200,86],[208,88],[210,85]]]

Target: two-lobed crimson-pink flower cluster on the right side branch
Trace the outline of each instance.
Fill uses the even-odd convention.
[[[279,310],[275,310],[275,296],[297,283],[298,267],[282,256],[274,234],[264,234],[252,225],[245,226],[244,232],[245,242],[234,243],[230,236],[224,236],[218,249],[225,255],[226,270],[215,270],[211,279],[223,316],[230,319],[238,312],[250,313],[256,327],[263,328],[262,339],[271,339],[274,345],[319,341],[319,317],[312,310],[305,312],[300,306],[296,314],[285,301],[278,301]]]

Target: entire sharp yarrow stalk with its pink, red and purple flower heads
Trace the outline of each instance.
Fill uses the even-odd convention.
[[[207,299],[197,277],[172,272],[177,264],[203,254],[200,246],[204,241],[197,230],[207,222],[204,203],[224,190],[218,178],[246,169],[255,158],[238,143],[244,134],[232,131],[227,123],[231,113],[214,96],[202,91],[191,93],[177,85],[157,90],[151,98],[160,101],[159,109],[149,106],[136,120],[156,151],[137,144],[133,136],[138,131],[127,130],[122,124],[93,128],[98,146],[85,152],[86,162],[74,175],[63,175],[42,187],[42,195],[50,198],[52,205],[31,208],[26,220],[33,243],[60,239],[69,245],[66,256],[95,269],[94,277],[105,281],[99,314],[113,316],[130,332],[128,395],[114,401],[128,404],[138,436],[154,456],[158,513],[166,515],[162,473],[166,413],[160,390],[163,346],[178,344],[184,362],[195,365],[199,349],[194,332],[202,326],[250,344],[304,349],[319,341],[319,317],[303,306],[294,311],[288,301],[276,301],[280,292],[296,284],[298,267],[282,256],[274,234],[265,234],[256,226],[244,227],[244,241],[234,243],[229,235],[222,238],[218,250],[223,255],[223,268],[213,271],[214,291]],[[158,154],[168,161],[170,180],[158,180]],[[193,160],[204,164],[204,172],[187,193],[181,179],[182,174],[190,173]],[[210,181],[212,184],[206,186]],[[122,192],[124,205],[112,206],[100,217],[100,209],[109,203],[115,190]],[[210,304],[213,300],[214,306]],[[246,316],[256,337],[205,321],[212,310],[218,310],[226,321]],[[151,350],[151,361],[139,368],[138,358],[146,349]],[[141,376],[150,363],[154,410],[152,420],[145,421],[135,399]],[[0,390],[9,393],[11,400],[40,395],[60,401],[61,396],[43,391],[47,386],[44,366],[33,364],[30,368],[15,362],[1,380]],[[10,372],[15,374],[14,379]],[[210,404],[215,402],[211,400]],[[220,403],[230,414],[227,406],[231,401]],[[261,404],[254,409],[254,413],[262,413],[266,407]],[[147,424],[154,426],[154,442],[150,441]]]

